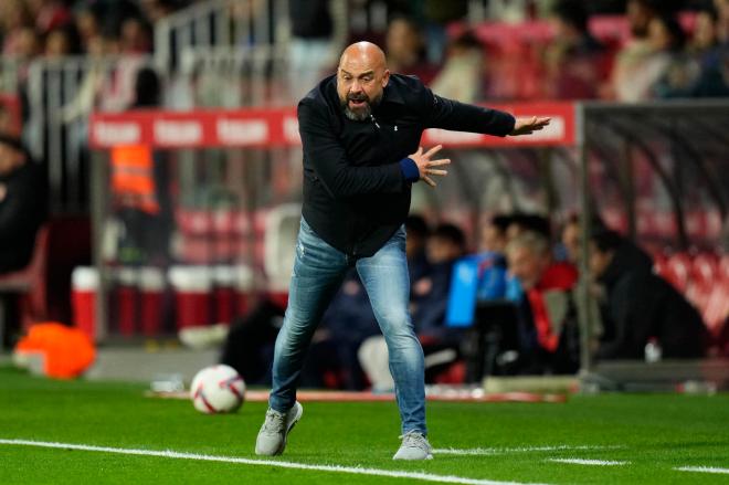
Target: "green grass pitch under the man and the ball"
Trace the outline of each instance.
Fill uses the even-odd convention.
[[[0,484],[685,484],[729,483],[729,396],[575,396],[567,403],[429,403],[436,453],[430,462],[391,460],[399,445],[393,402],[304,403],[302,422],[276,462],[295,467],[19,445],[14,440],[170,450],[257,460],[264,403],[203,415],[189,401],[144,397],[144,384],[51,381],[0,369]],[[539,447],[551,447],[538,450]],[[554,458],[622,462],[613,466]],[[421,473],[419,477],[302,470],[302,464]],[[377,472],[379,473],[379,472]]]

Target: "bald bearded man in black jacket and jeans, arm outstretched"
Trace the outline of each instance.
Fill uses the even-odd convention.
[[[445,176],[441,146],[419,147],[425,128],[528,135],[549,118],[507,113],[434,95],[416,77],[390,74],[369,42],[345,50],[337,74],[298,104],[304,205],[288,308],[276,339],[273,390],[256,440],[258,455],[284,452],[302,418],[296,386],[311,335],[351,266],[367,289],[388,345],[402,422],[394,460],[432,458],[425,426],[423,350],[408,313],[404,221],[411,184]]]

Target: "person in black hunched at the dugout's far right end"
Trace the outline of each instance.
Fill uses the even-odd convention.
[[[602,319],[605,328],[614,329],[605,333],[598,358],[643,359],[651,338],[657,339],[664,357],[704,356],[707,331],[698,312],[642,259],[614,231],[590,240],[590,268],[604,287]]]

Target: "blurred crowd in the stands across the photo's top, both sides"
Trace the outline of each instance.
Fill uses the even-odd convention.
[[[19,60],[151,53],[155,22],[191,3],[6,0],[2,53]],[[232,14],[271,13],[273,32],[281,19],[268,3],[242,1]],[[289,0],[284,39],[292,99],[332,71],[347,42],[360,39],[384,48],[391,71],[418,75],[436,93],[464,102],[729,94],[729,0],[493,0],[485,6],[498,17],[469,24],[465,0]],[[601,29],[592,22],[615,13],[627,27],[616,21]],[[521,23],[505,29],[511,20]]]

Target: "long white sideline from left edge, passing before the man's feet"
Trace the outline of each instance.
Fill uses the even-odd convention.
[[[490,479],[466,478],[466,477],[453,476],[453,475],[436,475],[425,472],[398,472],[392,470],[363,468],[359,466],[309,465],[306,463],[279,462],[273,460],[251,460],[251,458],[241,458],[235,456],[200,455],[196,453],[175,452],[171,450],[154,451],[154,450],[137,450],[137,449],[124,449],[124,447],[110,447],[110,446],[94,446],[88,444],[56,443],[56,442],[31,441],[31,440],[3,440],[3,439],[0,439],[0,444],[17,445],[17,446],[51,447],[51,449],[61,449],[61,450],[81,450],[81,451],[89,451],[89,452],[117,453],[122,455],[158,456],[163,458],[197,460],[203,462],[240,463],[243,465],[277,466],[279,468],[310,470],[310,471],[331,472],[331,473],[350,473],[356,475],[388,476],[393,478],[411,478],[411,479],[421,479],[424,482],[456,483],[464,485],[543,485],[543,484],[526,484],[520,482],[496,482]]]

